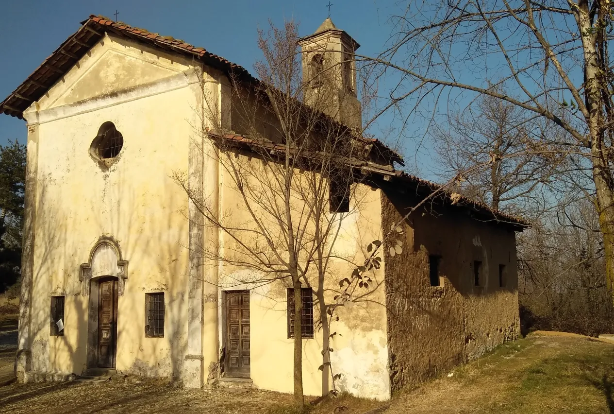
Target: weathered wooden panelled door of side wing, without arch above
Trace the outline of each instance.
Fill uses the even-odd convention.
[[[249,291],[226,294],[226,373],[249,378]]]

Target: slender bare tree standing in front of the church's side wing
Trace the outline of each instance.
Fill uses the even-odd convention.
[[[335,76],[326,70],[314,73],[319,85],[329,85],[324,93],[316,93],[311,80],[302,76],[297,39],[292,21],[282,29],[271,25],[270,31],[260,31],[263,60],[255,66],[260,80],[231,77],[227,107],[220,107],[219,96],[201,82],[203,104],[196,108],[201,120],[195,125],[196,139],[199,145],[206,143],[204,156],[223,171],[224,191],[238,200],[236,207],[219,211],[217,197],[190,188],[185,173],[175,178],[200,213],[198,224],[223,235],[223,248],[203,246],[203,264],[229,271],[249,269],[255,275],[249,280],[251,286],[279,283],[292,288],[294,399],[297,412],[302,412],[301,287],[316,291],[320,314],[316,326],[323,338],[322,383],[327,392],[332,381],[335,391],[339,374],[330,370],[334,334],[329,331],[332,308],[338,303],[327,291],[343,285],[339,280],[346,275],[337,273],[339,268],[351,271],[364,260],[361,252],[341,251],[335,242],[341,223],[360,209],[368,194],[367,187],[359,185],[362,178],[357,171],[369,142],[360,131],[325,115],[333,104],[325,92],[332,90]],[[231,125],[224,122],[223,111],[232,114]],[[376,286],[365,274],[360,288],[368,294]]]

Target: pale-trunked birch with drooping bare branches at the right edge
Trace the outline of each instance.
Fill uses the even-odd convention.
[[[611,7],[605,0],[406,1],[392,18],[390,47],[359,58],[370,62],[365,70],[375,81],[400,74],[382,111],[401,109],[404,119],[428,105],[427,121],[435,122],[446,109],[442,97],[449,107],[489,96],[522,114],[510,129],[536,119],[560,128],[554,141],[529,131],[526,152],[576,157],[588,169],[614,300]]]

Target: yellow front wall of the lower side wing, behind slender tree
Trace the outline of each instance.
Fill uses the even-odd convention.
[[[227,168],[220,166],[220,212],[223,212],[225,222],[236,227],[249,227],[254,220],[246,209],[246,203],[236,191],[236,185],[231,179]],[[243,155],[239,158],[231,156],[232,160],[241,163]],[[260,168],[262,162],[253,158],[251,168]],[[266,174],[266,168],[262,167],[262,174]],[[255,176],[260,176],[255,172]],[[300,174],[295,174],[295,180],[301,179]],[[262,179],[262,182],[265,179]],[[273,182],[274,180],[271,180]],[[246,186],[249,184],[245,184]],[[258,186],[254,183],[254,192],[258,193]],[[263,193],[262,197],[266,197]],[[297,200],[300,200],[297,197]],[[298,201],[297,201],[298,202]],[[264,222],[266,213],[263,213],[257,200],[251,201],[251,208],[255,209],[255,216]],[[296,205],[293,211],[305,211],[304,206]],[[328,212],[328,205],[324,206]],[[294,217],[295,223],[301,215]],[[337,217],[341,217],[338,215]],[[303,216],[305,220],[305,216]],[[328,265],[327,274],[322,282],[318,281],[315,265],[307,275],[308,284],[313,288],[313,319],[315,322],[314,337],[302,339],[303,350],[303,387],[306,395],[319,396],[327,394],[332,389],[330,373],[320,370],[323,364],[322,344],[325,335],[333,335],[330,348],[332,373],[340,373],[336,380],[336,388],[362,397],[387,399],[390,395],[389,376],[387,365],[386,345],[386,308],[384,303],[383,268],[367,272],[373,280],[368,289],[356,289],[352,294],[353,303],[339,307],[335,316],[338,321],[333,321],[330,331],[321,329],[321,302],[318,291],[321,290],[326,305],[336,302],[335,296],[343,289],[339,281],[343,278],[351,278],[354,265],[362,264],[365,255],[368,254],[367,246],[373,240],[381,238],[381,203],[379,190],[359,185],[350,201],[350,213],[343,215],[338,224],[333,225],[329,233],[329,240],[336,235],[335,249],[333,249],[331,263]],[[313,227],[300,225],[307,233],[313,232]],[[273,235],[281,233],[278,224],[271,220],[268,232]],[[338,230],[338,231],[337,231]],[[258,230],[257,230],[258,232]],[[306,236],[309,238],[309,235]],[[274,238],[275,239],[275,238]],[[284,255],[287,246],[284,247],[283,237],[275,241],[279,243],[278,252]],[[244,239],[248,244],[257,243],[257,233]],[[260,237],[262,242],[262,237]],[[288,335],[288,306],[287,289],[292,286],[289,278],[266,283],[266,278],[271,276],[255,271],[249,265],[236,264],[241,260],[256,264],[255,260],[243,256],[244,249],[236,246],[230,236],[220,232],[220,255],[228,262],[219,268],[220,272],[220,349],[225,343],[225,318],[224,291],[249,289],[250,291],[250,325],[251,356],[250,376],[257,388],[271,389],[282,393],[293,392],[293,338]],[[268,249],[260,248],[261,251]],[[270,252],[270,254],[272,254]],[[300,255],[305,258],[304,254]],[[301,259],[301,260],[303,260]],[[230,262],[236,265],[230,265]],[[305,262],[301,262],[305,265]]]

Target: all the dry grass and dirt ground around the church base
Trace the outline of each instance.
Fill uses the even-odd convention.
[[[11,360],[12,361],[12,360]],[[614,345],[532,334],[500,346],[452,377],[388,402],[395,413],[614,413]],[[311,400],[309,414],[362,414],[386,405],[342,394]],[[292,396],[271,391],[187,390],[161,383],[28,384],[0,388],[0,412],[292,414]]]

